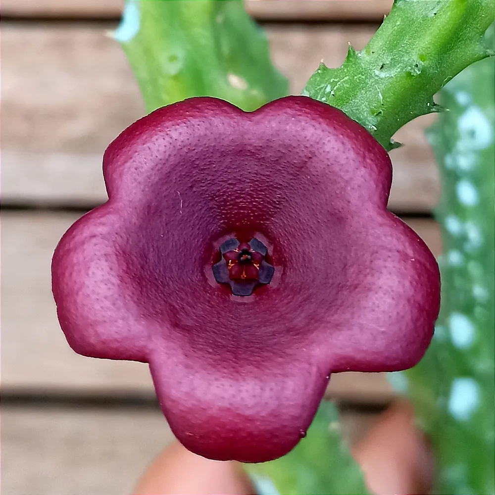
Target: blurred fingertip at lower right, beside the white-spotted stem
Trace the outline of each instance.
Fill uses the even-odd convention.
[[[398,401],[383,413],[352,454],[376,495],[426,495],[434,476],[433,455],[414,424],[410,403]]]

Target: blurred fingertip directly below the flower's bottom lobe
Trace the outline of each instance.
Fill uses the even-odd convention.
[[[154,460],[133,495],[253,495],[237,462],[205,459],[174,442]]]

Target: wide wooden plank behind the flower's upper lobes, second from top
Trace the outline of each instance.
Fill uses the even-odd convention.
[[[112,27],[3,23],[4,204],[105,200],[103,151],[145,112],[125,55],[107,36]],[[374,31],[348,25],[267,28],[274,62],[289,76],[293,94],[300,93],[320,60],[339,66],[348,42],[360,49]],[[438,172],[423,132],[431,122],[431,116],[421,117],[397,133],[404,146],[391,153],[393,210],[429,211],[437,202]]]

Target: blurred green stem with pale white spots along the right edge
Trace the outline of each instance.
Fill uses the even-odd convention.
[[[494,87],[494,58],[462,71],[429,132],[442,179],[442,305],[425,357],[400,375],[432,439],[439,494],[495,493]]]

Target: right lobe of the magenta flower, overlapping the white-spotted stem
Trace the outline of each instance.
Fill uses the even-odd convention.
[[[440,274],[432,253],[394,215],[373,221],[379,235],[363,238],[353,253],[336,311],[327,320],[332,345],[320,350],[332,353],[333,373],[410,368],[433,337]]]

